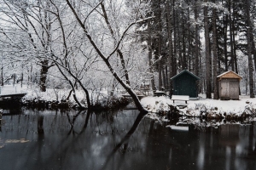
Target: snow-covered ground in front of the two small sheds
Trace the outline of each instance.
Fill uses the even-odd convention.
[[[168,105],[185,105],[184,101],[175,101],[173,104],[171,99],[167,97],[151,97],[148,96],[141,100],[143,106],[149,111],[153,113],[157,113],[159,111],[168,111]],[[241,113],[245,111],[246,106],[248,106],[247,102],[251,103],[250,106],[255,106],[256,99],[250,99],[249,96],[241,95],[239,100],[220,100],[220,99],[206,99],[204,96],[201,96],[198,100],[189,100],[187,108],[180,109],[184,114],[188,116],[200,116],[201,109],[205,109],[205,111],[212,111],[215,114],[235,114],[237,116],[241,116]],[[204,107],[204,108],[202,108]],[[253,108],[254,110],[256,109]]]

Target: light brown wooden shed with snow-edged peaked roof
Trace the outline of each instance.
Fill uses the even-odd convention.
[[[234,71],[226,71],[217,77],[219,99],[239,99],[241,76]]]

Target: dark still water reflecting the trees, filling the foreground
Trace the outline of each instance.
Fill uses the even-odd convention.
[[[5,111],[1,170],[256,169],[256,127],[166,127],[135,110]]]

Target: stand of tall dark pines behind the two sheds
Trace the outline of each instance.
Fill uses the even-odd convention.
[[[216,77],[224,71],[240,74],[247,67],[249,94],[254,97],[254,0],[152,0],[142,41],[148,42],[151,84],[172,94],[171,77],[188,70],[201,77],[199,92],[218,99]],[[240,57],[239,59],[239,56]],[[247,60],[247,65],[240,60]]]

